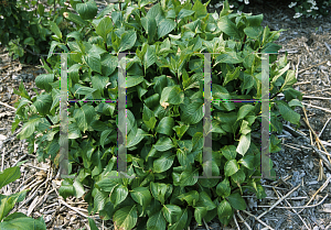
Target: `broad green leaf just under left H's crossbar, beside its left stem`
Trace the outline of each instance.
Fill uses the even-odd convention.
[[[74,111],[74,118],[78,124],[79,130],[84,133],[88,129],[90,122],[95,117],[95,109],[93,106],[84,105]]]

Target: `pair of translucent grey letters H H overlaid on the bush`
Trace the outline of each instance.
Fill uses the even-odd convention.
[[[62,178],[74,178],[68,176],[68,102],[87,102],[87,101],[103,101],[103,102],[118,102],[118,132],[117,132],[117,176],[111,178],[137,178],[127,175],[127,98],[126,98],[126,55],[136,53],[118,53],[118,99],[94,99],[94,100],[68,100],[68,79],[67,79],[67,55],[73,53],[53,53],[61,54],[61,97],[60,97],[60,175]],[[212,175],[212,100],[220,100],[212,98],[212,78],[211,78],[211,54],[218,53],[194,53],[204,55],[204,105],[203,105],[203,176],[197,178],[221,178],[222,176]],[[270,98],[269,98],[269,54],[278,53],[261,53],[261,99],[241,100],[232,99],[225,102],[261,102],[261,176],[252,176],[254,178],[270,178],[270,150],[269,150],[269,129],[270,129]],[[195,176],[196,178],[196,176]]]

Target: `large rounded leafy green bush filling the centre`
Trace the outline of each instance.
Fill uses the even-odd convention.
[[[35,79],[45,91],[30,98],[20,86],[12,131],[22,121],[19,136],[28,139],[29,152],[36,142],[38,157],[58,164],[61,59],[52,55],[53,48],[76,53],[67,61],[68,98],[78,100],[116,100],[117,54],[136,52],[126,61],[127,168],[136,178],[110,178],[117,176],[116,102],[71,103],[68,156],[75,178],[63,180],[62,196],[85,194],[92,213],[113,218],[124,229],[132,229],[140,219],[141,228],[158,230],[182,230],[192,218],[201,224],[202,218],[217,217],[226,226],[235,209],[246,208],[244,193],[264,198],[260,179],[253,178],[260,176],[260,140],[250,135],[260,133],[261,103],[224,100],[261,97],[261,57],[254,52],[277,52],[280,46],[274,41],[280,31],[263,29],[261,14],[231,14],[227,3],[218,15],[209,14],[200,1],[192,6],[163,0],[148,12],[143,6],[150,2],[127,1],[120,10],[109,6],[98,14],[94,1],[71,2],[79,14],[64,15],[76,31],[65,35],[53,25],[54,41],[44,62],[49,74]],[[111,19],[105,17],[108,13]],[[201,53],[220,53],[211,55],[211,166],[221,179],[194,177],[204,166]],[[279,151],[275,133],[281,131],[282,118],[299,124],[293,109],[302,99],[291,88],[296,78],[286,56],[276,59],[270,55],[271,152]],[[274,97],[278,92],[287,95],[285,101]]]

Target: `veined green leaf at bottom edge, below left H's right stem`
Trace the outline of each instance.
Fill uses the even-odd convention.
[[[117,226],[117,228],[124,228],[124,230],[134,229],[137,223],[138,215],[137,207],[126,206],[119,210],[117,210],[114,215],[113,221]]]

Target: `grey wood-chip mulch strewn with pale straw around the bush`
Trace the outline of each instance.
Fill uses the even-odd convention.
[[[212,9],[209,11],[214,12]],[[220,13],[221,9],[216,11]],[[303,121],[303,110],[297,109],[301,116],[300,128],[292,131],[291,125],[287,124],[278,135],[282,139],[282,150],[271,154],[277,177],[280,178],[276,183],[263,179],[267,198],[258,200],[255,196],[244,196],[247,209],[237,212],[227,228],[222,228],[215,219],[202,227],[196,227],[193,221],[190,229],[331,229],[331,160],[316,151],[331,152],[331,15],[317,20],[302,19],[300,22],[292,19],[292,10],[269,1],[248,7],[247,12],[263,13],[263,25],[271,30],[288,29],[276,43],[282,45],[279,57],[287,51],[290,68],[298,72],[295,89],[305,94],[302,103],[311,129]],[[88,229],[87,204],[83,199],[67,198],[64,201],[58,197],[61,180],[55,179],[56,168],[50,162],[38,163],[35,156],[28,155],[28,143],[17,139],[22,125],[14,133],[10,131],[15,111],[13,103],[19,99],[13,89],[18,89],[20,80],[23,80],[28,92],[34,96],[34,78],[43,69],[12,61],[3,48],[0,50],[0,58],[1,171],[24,162],[21,178],[1,189],[1,194],[10,195],[31,188],[26,199],[13,211],[33,218],[43,215],[47,229]],[[111,221],[103,221],[97,216],[94,218],[99,229],[114,229]]]

